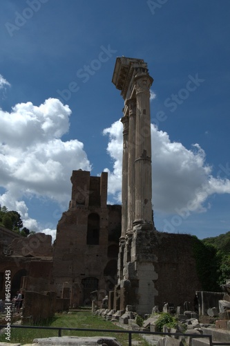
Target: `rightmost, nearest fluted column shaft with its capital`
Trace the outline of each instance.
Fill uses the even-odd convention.
[[[135,124],[135,220],[152,222],[150,86],[153,78],[143,71],[135,75],[137,115]]]

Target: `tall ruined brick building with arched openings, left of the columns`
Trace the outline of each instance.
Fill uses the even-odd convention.
[[[116,281],[121,206],[106,205],[107,179],[106,172],[73,171],[70,206],[57,225],[50,289],[61,298],[68,286],[71,306],[90,303],[91,291]]]

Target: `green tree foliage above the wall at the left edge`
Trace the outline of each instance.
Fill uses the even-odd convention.
[[[0,207],[0,226],[12,230],[15,233],[27,237],[29,234],[33,233],[26,227],[23,227],[23,222],[21,220],[21,215],[15,210],[8,210],[6,206]],[[21,228],[21,229],[20,229]]]

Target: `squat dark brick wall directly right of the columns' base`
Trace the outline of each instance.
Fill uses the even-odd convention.
[[[193,238],[160,232],[155,236],[157,263],[154,266],[158,274],[155,304],[162,309],[164,302],[183,306],[185,301],[189,301],[193,306],[195,291],[202,289],[193,255]]]

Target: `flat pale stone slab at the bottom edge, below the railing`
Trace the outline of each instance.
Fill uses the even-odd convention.
[[[55,346],[67,346],[67,345],[108,345],[108,346],[121,346],[117,342],[116,338],[104,337],[104,336],[93,336],[93,337],[77,337],[77,336],[61,336],[52,338],[36,338],[33,340],[35,345],[55,345]]]

